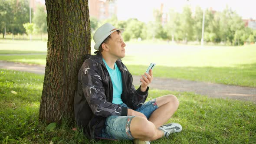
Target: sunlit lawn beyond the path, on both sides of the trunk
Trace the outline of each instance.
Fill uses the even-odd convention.
[[[46,42],[0,39],[0,54],[7,51],[12,54],[2,55],[0,60],[45,65],[46,50]],[[45,53],[14,55],[20,51]],[[92,53],[94,51],[92,48]],[[187,46],[128,42],[122,60],[132,75],[142,75],[150,62],[155,62],[154,77],[256,87],[256,45]]]

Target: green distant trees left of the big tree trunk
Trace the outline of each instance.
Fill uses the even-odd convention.
[[[46,10],[38,6],[35,13],[31,10],[30,23],[29,0],[0,0],[0,33],[6,34],[43,34],[47,33]]]

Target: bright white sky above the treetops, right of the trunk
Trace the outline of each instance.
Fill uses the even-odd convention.
[[[243,19],[253,18],[256,20],[256,0],[117,0],[118,20],[137,18],[148,22],[153,20],[152,10],[160,8],[164,3],[164,10],[169,8],[182,12],[184,5],[188,4],[192,8],[197,5],[202,8],[212,7],[212,10],[222,11],[228,7],[236,11]]]

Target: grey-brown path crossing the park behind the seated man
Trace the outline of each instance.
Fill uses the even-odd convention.
[[[0,69],[13,69],[44,74],[45,66],[0,61]],[[139,79],[139,76],[133,77],[135,85],[139,85]],[[252,87],[164,78],[154,78],[150,87],[178,92],[194,92],[196,94],[207,95],[213,98],[233,98],[243,101],[253,101],[256,103],[256,88]]]

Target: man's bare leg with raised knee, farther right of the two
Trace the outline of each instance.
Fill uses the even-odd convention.
[[[156,109],[148,119],[151,121],[156,128],[166,123],[171,116],[177,111],[179,101],[174,95],[164,95],[156,98],[158,109]]]

